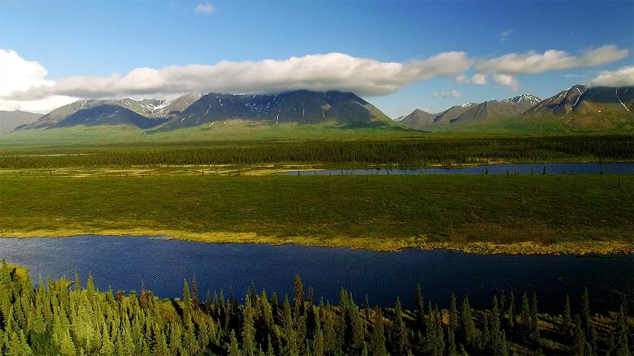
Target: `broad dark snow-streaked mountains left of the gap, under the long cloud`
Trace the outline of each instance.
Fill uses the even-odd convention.
[[[62,106],[21,129],[75,125],[133,125],[174,130],[225,120],[343,125],[394,125],[375,106],[351,92],[290,91],[272,95],[190,93],[178,99],[83,100]]]

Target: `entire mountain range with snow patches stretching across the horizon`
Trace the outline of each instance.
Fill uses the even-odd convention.
[[[8,132],[75,125],[132,125],[165,131],[211,126],[226,120],[329,123],[343,127],[406,125],[424,130],[477,127],[496,120],[511,124],[514,120],[550,120],[579,129],[612,129],[634,126],[633,112],[634,87],[579,84],[543,100],[521,94],[501,101],[456,105],[441,113],[417,109],[396,120],[352,92],[297,90],[256,95],[188,93],[173,100],[81,100],[43,116],[0,111],[0,129]]]

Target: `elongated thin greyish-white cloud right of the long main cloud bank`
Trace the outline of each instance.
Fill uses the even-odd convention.
[[[492,60],[477,63],[475,68],[478,72],[485,74],[537,74],[550,70],[604,65],[621,60],[627,55],[627,49],[618,49],[615,45],[607,45],[586,51],[581,56],[571,56],[565,51],[549,49],[541,54],[535,51],[530,51],[526,54],[505,54]]]

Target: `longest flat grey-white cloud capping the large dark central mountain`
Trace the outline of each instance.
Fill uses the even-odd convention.
[[[123,77],[67,77],[51,86],[13,92],[14,100],[49,96],[112,98],[134,95],[167,95],[181,92],[273,93],[295,89],[352,91],[381,96],[402,86],[432,79],[456,77],[473,61],[464,52],[441,53],[410,63],[380,62],[347,54],[313,54],[288,60],[259,62],[221,61],[216,65],[136,68]]]

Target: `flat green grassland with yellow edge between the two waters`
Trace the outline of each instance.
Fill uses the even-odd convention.
[[[0,236],[634,251],[631,175],[0,178]]]

